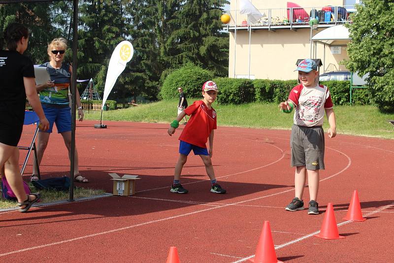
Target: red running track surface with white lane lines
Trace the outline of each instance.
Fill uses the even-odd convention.
[[[2,212],[0,262],[164,263],[170,246],[178,248],[182,263],[242,262],[255,254],[264,220],[270,221],[282,261],[393,260],[394,140],[327,137],[321,213],[313,216],[284,210],[294,197],[290,131],[219,127],[212,161],[228,194],[210,193],[201,160],[190,156],[181,179],[189,194],[176,195],[169,185],[180,129],[169,137],[167,124],[105,122],[108,129],[99,130],[95,123],[77,124],[80,170],[90,180],[82,186],[112,192],[109,172],[137,174],[142,179],[136,195],[34,208],[26,214]],[[25,129],[21,145],[32,129]],[[40,168],[44,178],[68,173],[59,134],[51,135]],[[367,220],[340,225],[344,239],[308,237],[320,230],[328,202],[334,204],[337,223],[345,222],[354,190]]]

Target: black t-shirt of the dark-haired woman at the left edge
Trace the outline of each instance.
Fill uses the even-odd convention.
[[[23,125],[26,107],[23,77],[34,77],[32,61],[17,51],[0,50],[0,129]]]

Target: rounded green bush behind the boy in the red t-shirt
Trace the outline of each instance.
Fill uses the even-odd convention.
[[[199,66],[188,64],[168,74],[159,93],[161,99],[178,97],[178,87],[183,88],[187,98],[200,98],[202,84],[211,80],[213,73]]]

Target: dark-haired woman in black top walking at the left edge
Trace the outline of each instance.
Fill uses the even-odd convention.
[[[26,195],[19,171],[17,145],[25,119],[26,97],[40,119],[42,130],[48,129],[49,122],[35,91],[33,63],[22,55],[29,42],[27,28],[9,24],[3,39],[6,48],[0,51],[0,169],[18,199],[19,211],[27,212],[40,194]]]

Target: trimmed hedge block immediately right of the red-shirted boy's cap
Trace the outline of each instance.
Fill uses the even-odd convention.
[[[255,88],[249,79],[215,78],[220,104],[242,104],[255,101]]]

